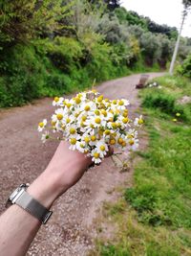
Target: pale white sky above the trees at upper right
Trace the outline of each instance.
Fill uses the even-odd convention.
[[[150,17],[159,24],[177,27],[180,30],[181,0],[121,0],[121,6],[128,11]],[[182,34],[191,37],[191,12],[186,17]]]

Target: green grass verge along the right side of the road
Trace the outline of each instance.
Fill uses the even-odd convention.
[[[191,255],[191,111],[190,105],[177,105],[183,95],[191,96],[191,82],[175,77],[157,81],[162,89],[140,92],[149,146],[138,151],[134,185],[104,207],[108,225],[117,223],[115,237],[97,240],[91,255]],[[166,106],[157,98],[165,99]],[[173,122],[177,107],[181,116]]]

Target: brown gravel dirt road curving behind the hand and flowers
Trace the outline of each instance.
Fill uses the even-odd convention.
[[[150,78],[160,76],[150,74]],[[130,111],[138,108],[135,84],[139,75],[107,81],[97,87],[104,96],[127,98]],[[51,99],[33,105],[0,111],[0,211],[11,191],[20,183],[32,182],[50,161],[57,143],[40,142],[36,126],[53,112]],[[121,174],[111,159],[86,173],[78,184],[53,205],[53,217],[42,226],[28,255],[85,256],[93,246],[96,228],[92,224],[103,200],[131,174]]]

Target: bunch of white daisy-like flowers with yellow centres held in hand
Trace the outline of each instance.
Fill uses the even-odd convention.
[[[127,100],[104,99],[96,90],[78,93],[73,99],[55,97],[56,107],[50,128],[47,120],[38,124],[42,141],[46,142],[56,133],[58,140],[69,142],[69,149],[91,156],[99,164],[115,146],[123,151],[138,148],[136,127],[143,123],[142,116],[134,121],[128,116]]]

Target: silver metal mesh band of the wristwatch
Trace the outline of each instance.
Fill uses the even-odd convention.
[[[53,214],[52,211],[49,211],[41,203],[32,198],[32,196],[27,193],[27,191],[24,191],[22,195],[16,199],[15,204],[28,211],[32,216],[41,221],[43,224],[46,224],[46,222]]]

